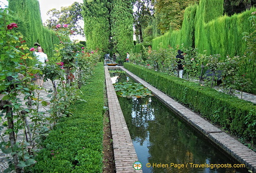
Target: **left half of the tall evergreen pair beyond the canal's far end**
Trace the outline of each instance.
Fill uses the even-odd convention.
[[[108,52],[110,48],[110,1],[84,1],[82,8],[88,49],[100,48]]]

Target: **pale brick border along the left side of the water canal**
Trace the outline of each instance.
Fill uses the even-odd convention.
[[[123,112],[117,99],[116,91],[105,67],[105,83],[110,115],[110,126],[113,139],[114,161],[117,173],[142,172],[135,170],[133,164],[138,161],[130,133],[124,120]]]

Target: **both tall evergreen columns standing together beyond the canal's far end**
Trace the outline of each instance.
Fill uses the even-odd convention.
[[[113,47],[124,58],[133,48],[133,2],[84,1],[82,8],[88,49]]]

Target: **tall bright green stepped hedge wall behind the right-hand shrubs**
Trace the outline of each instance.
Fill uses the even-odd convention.
[[[242,33],[252,32],[248,17],[253,11],[255,8],[231,17],[223,16],[223,0],[201,0],[199,5],[185,9],[181,30],[154,38],[152,49],[158,49],[160,43],[164,48],[183,44],[185,48],[198,48],[199,53],[207,50],[207,55],[242,56],[247,48]]]

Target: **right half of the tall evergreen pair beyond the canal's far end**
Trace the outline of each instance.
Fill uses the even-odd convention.
[[[113,0],[111,34],[114,49],[124,58],[133,48],[133,1]]]

